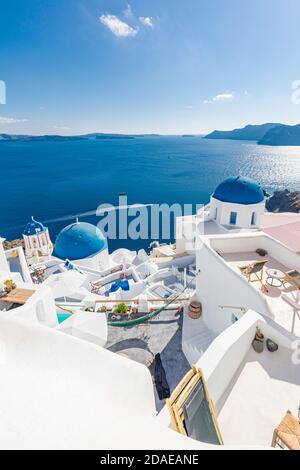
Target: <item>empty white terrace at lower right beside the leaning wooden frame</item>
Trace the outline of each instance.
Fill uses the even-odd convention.
[[[271,446],[287,410],[297,417],[300,374],[292,351],[279,347],[257,354],[251,348],[217,403],[226,445]]]

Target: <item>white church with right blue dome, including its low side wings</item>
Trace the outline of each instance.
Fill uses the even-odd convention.
[[[197,214],[177,217],[176,252],[195,254],[199,236],[262,231],[299,253],[300,215],[266,212],[265,203],[265,191],[256,181],[227,178]]]

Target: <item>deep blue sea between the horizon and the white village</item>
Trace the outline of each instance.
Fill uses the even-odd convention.
[[[21,236],[34,215],[52,240],[78,214],[98,205],[207,203],[224,178],[243,175],[264,189],[300,188],[300,147],[201,137],[138,137],[73,142],[0,142],[0,236]],[[64,220],[58,221],[57,219]],[[82,218],[97,223],[95,216]],[[147,247],[149,241],[110,241]]]

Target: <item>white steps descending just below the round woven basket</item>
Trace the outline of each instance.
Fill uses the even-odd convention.
[[[193,332],[190,328],[189,330],[191,335],[186,335],[183,342],[183,352],[190,365],[193,365],[200,359],[217,335],[206,326],[201,318],[196,321],[193,320]]]

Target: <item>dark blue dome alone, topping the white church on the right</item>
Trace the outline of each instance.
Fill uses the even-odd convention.
[[[264,201],[265,194],[256,181],[237,176],[227,178],[219,184],[213,197],[219,201],[234,204],[258,204]]]

